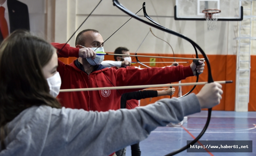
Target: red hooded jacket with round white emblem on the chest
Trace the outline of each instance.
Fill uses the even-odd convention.
[[[52,43],[58,50],[64,44]],[[66,45],[59,53],[58,57],[77,57],[78,48]],[[194,76],[190,66],[183,67],[165,67],[165,68],[145,68],[145,69],[126,69],[120,68],[104,68],[94,71],[87,75],[74,64],[64,64],[58,60],[57,71],[61,76],[61,89],[74,88],[94,88],[94,87],[113,87],[129,86],[129,85],[149,85],[149,84],[167,84],[178,82],[189,76]],[[108,81],[106,76],[113,85]],[[118,90],[121,94],[133,92],[140,89],[123,89]],[[110,109],[120,109],[121,95],[116,90],[96,90],[84,92],[65,92],[59,93],[58,98],[62,106],[68,108],[93,110],[93,111],[108,111]]]

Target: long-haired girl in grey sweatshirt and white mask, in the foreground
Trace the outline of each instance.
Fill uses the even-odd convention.
[[[15,31],[0,45],[1,156],[110,155],[222,98],[222,85],[210,83],[196,95],[132,110],[69,109],[54,97],[60,88],[58,62],[53,46],[26,31]]]

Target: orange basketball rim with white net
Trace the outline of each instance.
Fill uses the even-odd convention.
[[[202,13],[205,14],[208,31],[216,31],[218,21],[217,14],[220,12],[219,9],[205,9],[202,11]]]

